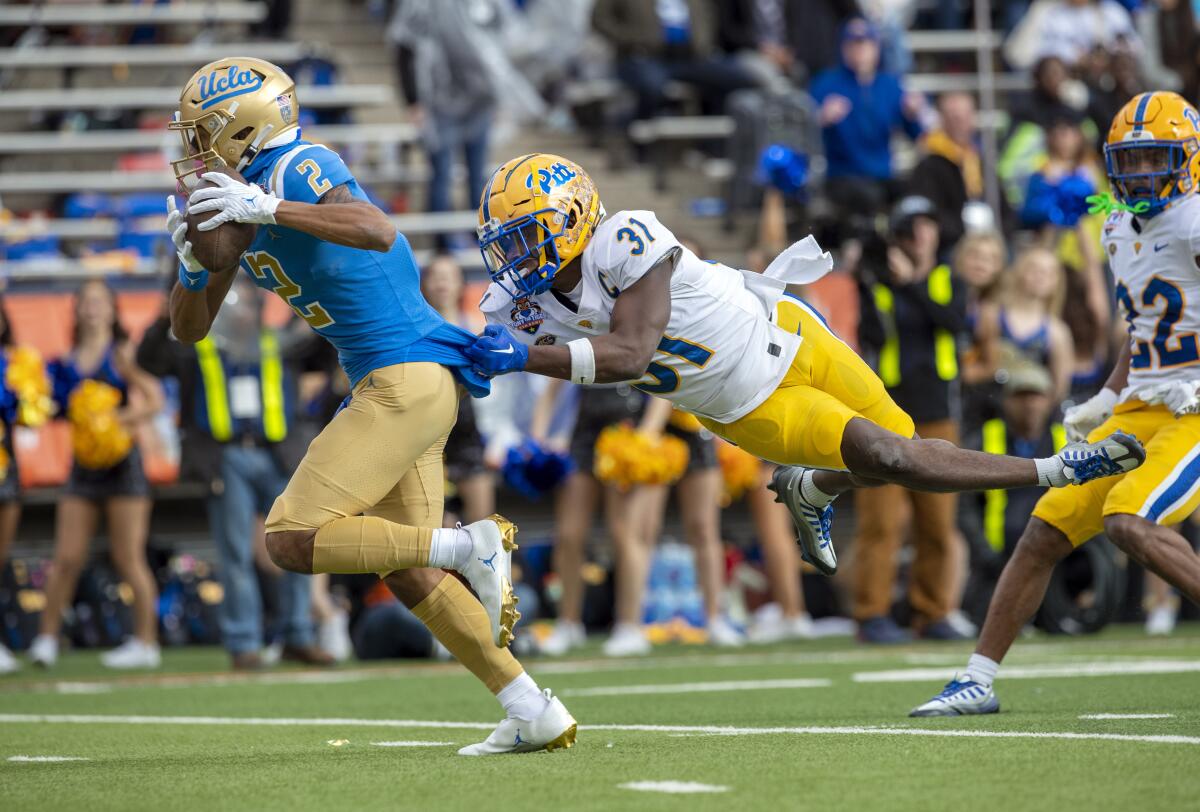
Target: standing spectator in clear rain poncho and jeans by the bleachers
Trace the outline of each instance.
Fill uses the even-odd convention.
[[[545,112],[538,91],[504,52],[499,2],[401,0],[392,16],[388,34],[397,48],[401,90],[433,170],[428,211],[452,209],[458,154],[467,164],[466,204],[479,200],[500,98],[514,115]],[[444,235],[439,241],[445,243]]]

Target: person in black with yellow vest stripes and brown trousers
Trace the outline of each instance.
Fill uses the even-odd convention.
[[[907,197],[892,213],[886,253],[864,251],[859,345],[888,395],[923,438],[958,441],[958,341],[966,331],[966,289],[940,265],[937,218],[925,198]],[[916,493],[894,485],[856,494],[854,619],[868,643],[908,639],[890,616],[896,552],[908,506],[916,559],[908,588],[913,626],[931,639],[960,639],[956,573],[964,560],[953,493]]]

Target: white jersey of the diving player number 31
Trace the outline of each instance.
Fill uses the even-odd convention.
[[[730,423],[775,391],[800,337],[772,323],[776,290],[755,284],[752,273],[700,259],[654,212],[620,211],[600,223],[583,251],[583,281],[569,299],[547,291],[514,301],[493,283],[480,309],[529,345],[604,335],[620,291],[676,248],[682,254],[671,277],[671,318],[635,385]]]

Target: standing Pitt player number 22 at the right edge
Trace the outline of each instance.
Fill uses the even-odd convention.
[[[1146,464],[1042,497],[966,669],[912,716],[1000,710],[1000,661],[1042,603],[1055,565],[1100,531],[1200,603],[1200,557],[1171,529],[1200,507],[1200,114],[1176,94],[1139,94],[1112,120],[1104,157],[1117,202],[1102,241],[1129,341],[1104,389],[1063,422],[1069,439],[1133,434]]]

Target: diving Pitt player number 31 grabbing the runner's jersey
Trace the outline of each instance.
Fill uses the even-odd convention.
[[[916,438],[870,367],[785,293],[786,283],[832,266],[812,237],[763,275],[707,263],[653,212],[606,217],[587,173],[544,154],[500,166],[479,217],[493,283],[480,303],[490,324],[466,350],[476,371],[637,381],[714,434],[780,463],[774,489],[797,522],[803,557],[822,572],[838,565],[830,503],[853,487],[1062,487],[1144,459],[1124,434],[1037,461]]]

